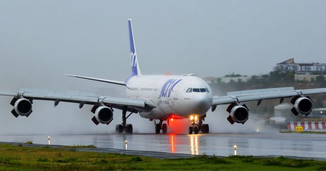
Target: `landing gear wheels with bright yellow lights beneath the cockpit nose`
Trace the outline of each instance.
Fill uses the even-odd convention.
[[[189,134],[198,134],[199,131],[202,133],[209,133],[209,126],[208,124],[203,124],[203,121],[205,121],[206,114],[203,116],[198,115],[191,115],[189,116],[189,121],[192,122],[192,126],[189,127],[188,132]]]

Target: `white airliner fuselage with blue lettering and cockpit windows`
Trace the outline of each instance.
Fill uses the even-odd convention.
[[[128,98],[149,99],[156,108],[140,112],[142,118],[168,119],[204,115],[212,103],[212,92],[203,79],[196,76],[142,75],[126,80]]]

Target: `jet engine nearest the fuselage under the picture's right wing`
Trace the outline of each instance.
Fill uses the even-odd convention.
[[[246,104],[240,106],[236,105],[235,103],[231,103],[226,111],[230,113],[230,116],[227,119],[231,124],[244,124],[249,118],[249,109]]]

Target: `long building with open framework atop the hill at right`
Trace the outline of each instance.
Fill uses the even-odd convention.
[[[296,74],[311,74],[320,72],[322,75],[326,74],[326,64],[319,62],[305,62],[295,63],[294,58],[276,64],[274,71],[280,70],[282,72],[293,71]]]

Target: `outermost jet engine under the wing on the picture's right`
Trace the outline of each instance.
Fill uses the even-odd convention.
[[[312,111],[312,101],[308,97],[298,97],[294,96],[291,100],[293,108],[291,109],[292,113],[297,116],[299,113],[301,115],[308,116]]]

